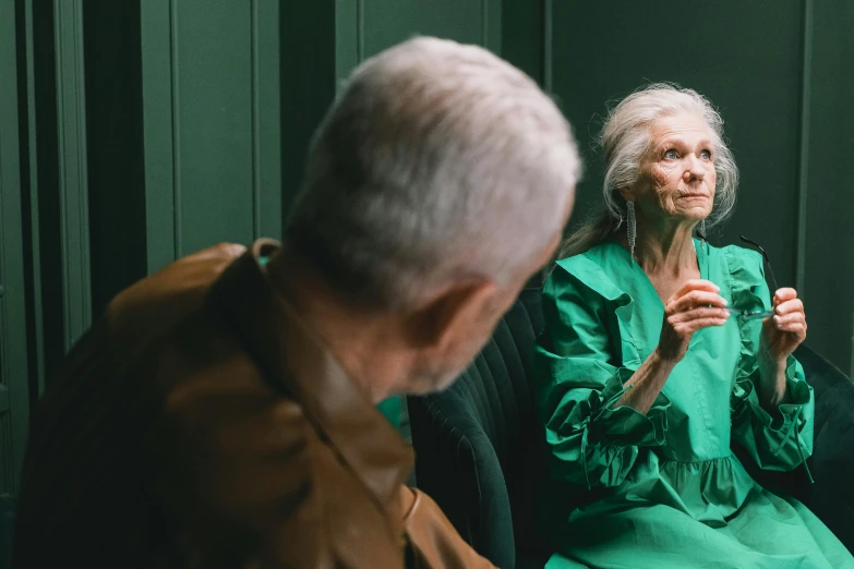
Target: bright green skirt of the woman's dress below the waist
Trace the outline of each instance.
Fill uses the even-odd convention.
[[[725,464],[713,470],[744,473],[741,464]],[[662,470],[667,467],[694,470],[674,463]],[[576,510],[557,530],[558,553],[546,568],[854,569],[851,553],[799,501],[762,488],[746,473],[732,484],[701,479],[694,496],[670,494],[661,480],[654,488],[645,481],[638,492]]]

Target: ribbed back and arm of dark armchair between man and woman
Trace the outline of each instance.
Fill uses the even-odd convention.
[[[539,290],[526,289],[452,387],[408,399],[418,486],[502,568],[548,559],[532,524],[545,449],[528,385],[542,326]]]

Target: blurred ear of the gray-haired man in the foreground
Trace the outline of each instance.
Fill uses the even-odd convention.
[[[469,336],[496,292],[490,279],[457,281],[442,289],[408,318],[412,346],[443,351]]]

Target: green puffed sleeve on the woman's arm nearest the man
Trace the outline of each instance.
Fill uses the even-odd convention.
[[[543,289],[545,330],[536,353],[536,389],[552,477],[616,486],[643,447],[664,444],[670,401],[659,395],[646,415],[616,405],[637,367],[625,365],[630,339],[621,337],[628,332],[633,301],[609,286],[604,274],[587,269],[596,273],[584,262],[561,264]]]

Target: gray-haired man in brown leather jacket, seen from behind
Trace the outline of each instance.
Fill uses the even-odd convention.
[[[448,385],[552,256],[569,126],[485,50],[357,69],[284,244],[219,245],[119,294],[27,452],[15,567],[489,567],[376,411]]]

